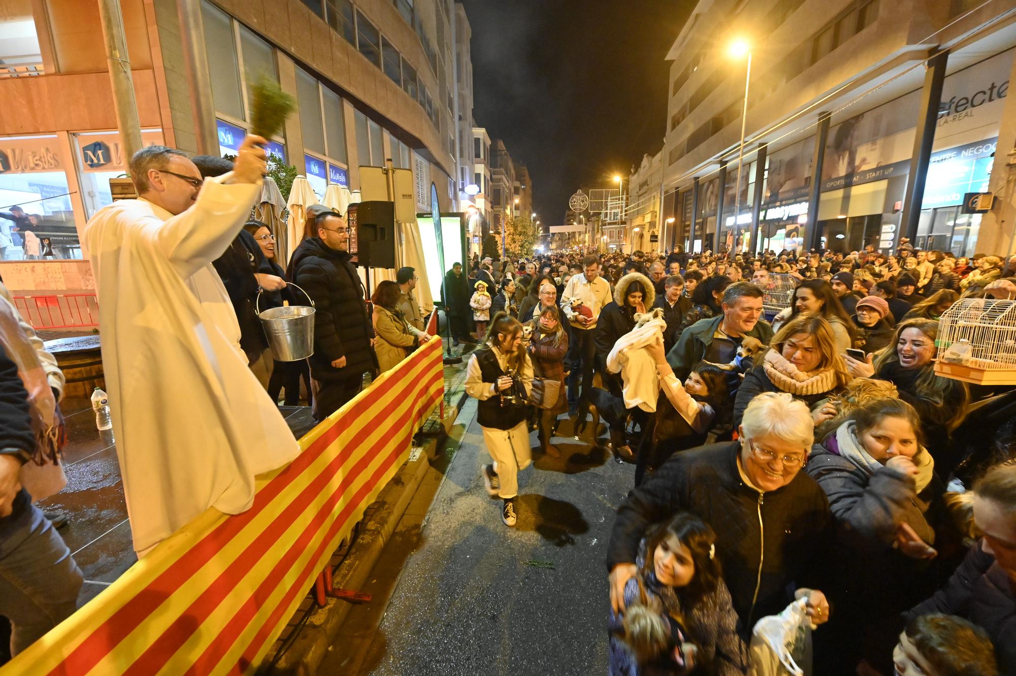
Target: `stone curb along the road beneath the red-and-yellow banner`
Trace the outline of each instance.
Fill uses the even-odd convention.
[[[420,457],[406,461],[377,500],[367,508],[356,541],[332,576],[334,587],[362,589],[367,585],[381,552],[430,469],[431,461],[437,457],[439,450],[444,449],[448,430],[458,417],[466,396],[462,392],[457,402],[453,401],[445,407],[442,433],[429,438]],[[329,598],[323,608],[318,608],[311,614],[300,635],[270,673],[281,676],[316,676],[321,661],[338,636],[352,607],[346,601]]]

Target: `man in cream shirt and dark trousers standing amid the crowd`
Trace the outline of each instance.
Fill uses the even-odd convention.
[[[578,410],[579,398],[587,398],[592,387],[592,369],[596,359],[596,343],[593,340],[596,320],[599,311],[611,302],[611,285],[599,276],[599,258],[586,256],[583,261],[584,272],[573,275],[565,285],[561,294],[561,310],[572,327],[571,342],[568,345],[566,361],[571,368],[568,376],[568,405],[572,411]],[[591,317],[572,309],[572,300],[578,298],[581,305],[588,308]],[[579,375],[582,377],[582,390],[579,393]]]

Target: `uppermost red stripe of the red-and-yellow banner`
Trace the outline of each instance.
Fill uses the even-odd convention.
[[[402,385],[403,381],[412,382],[409,374],[412,368],[424,360],[426,352],[414,355],[409,359],[409,365],[398,374],[397,378],[388,381],[387,387],[369,390],[367,395],[353,407],[353,410],[370,408],[383,396],[390,395],[391,390],[396,385]],[[346,414],[352,414],[353,410]],[[218,551],[226,546],[243,528],[257,517],[264,508],[274,499],[279,492],[289,486],[304,470],[309,467],[314,460],[334,443],[346,427],[341,425],[345,416],[333,420],[333,424],[320,437],[308,447],[304,453],[300,454],[290,463],[278,475],[254,496],[254,503],[250,510],[226,519],[215,529],[195,543],[181,557],[174,561],[170,567],[164,570],[144,590],[139,592],[134,598],[124,604],[108,620],[97,627],[80,645],[78,645],[67,658],[50,674],[51,676],[77,676],[87,673],[92,669],[110,651],[120,644],[137,624],[185,584],[194,573],[204,566]],[[356,448],[371,433],[367,425],[350,441],[348,449]]]

